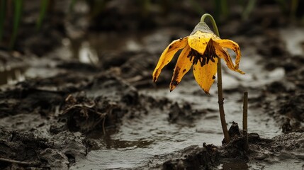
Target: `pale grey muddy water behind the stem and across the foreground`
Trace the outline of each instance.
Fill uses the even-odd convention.
[[[140,48],[135,41],[133,46],[133,49]],[[281,68],[264,70],[259,64],[261,57],[252,48],[244,47],[242,55],[240,68],[247,73],[246,75],[233,73],[223,64],[223,89],[228,91],[225,94],[226,120],[228,126],[235,121],[239,123],[240,128],[242,91],[249,91],[250,101],[261,93],[261,86],[280,80],[284,76]],[[152,109],[141,118],[125,118],[118,132],[99,138],[101,145],[91,150],[86,159],[80,160],[71,169],[140,169],[149,166],[154,155],[169,154],[190,145],[202,146],[203,142],[220,146],[223,134],[218,116],[216,84],[211,88],[210,95],[206,95],[191,74],[189,72],[186,80],[171,93],[166,87],[140,89],[140,93],[154,98],[169,98],[179,106],[189,103],[192,111],[199,113],[195,120],[170,123],[169,111],[157,109]],[[263,113],[262,108],[251,106],[250,103],[248,119],[249,132],[257,132],[261,137],[268,138],[281,134],[281,129],[274,118]],[[240,166],[240,169],[248,168],[244,162],[236,162],[233,165],[230,162],[221,164],[218,169],[237,166]]]

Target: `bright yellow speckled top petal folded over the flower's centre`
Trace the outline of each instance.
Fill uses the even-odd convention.
[[[196,31],[193,35],[188,38],[188,45],[198,53],[203,55],[206,50],[207,44],[211,38],[213,38],[213,33],[202,33],[201,31]]]

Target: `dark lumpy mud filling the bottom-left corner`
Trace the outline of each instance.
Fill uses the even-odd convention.
[[[87,147],[80,134],[66,133],[47,138],[36,137],[37,132],[4,128],[0,128],[0,134],[1,169],[68,169],[74,163],[72,159],[86,156]]]

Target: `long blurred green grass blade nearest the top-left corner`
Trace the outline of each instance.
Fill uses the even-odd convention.
[[[14,11],[13,11],[13,35],[11,35],[11,42],[9,43],[10,49],[13,49],[13,45],[15,45],[18,29],[21,20],[22,14],[22,6],[23,0],[15,0],[13,1]]]

